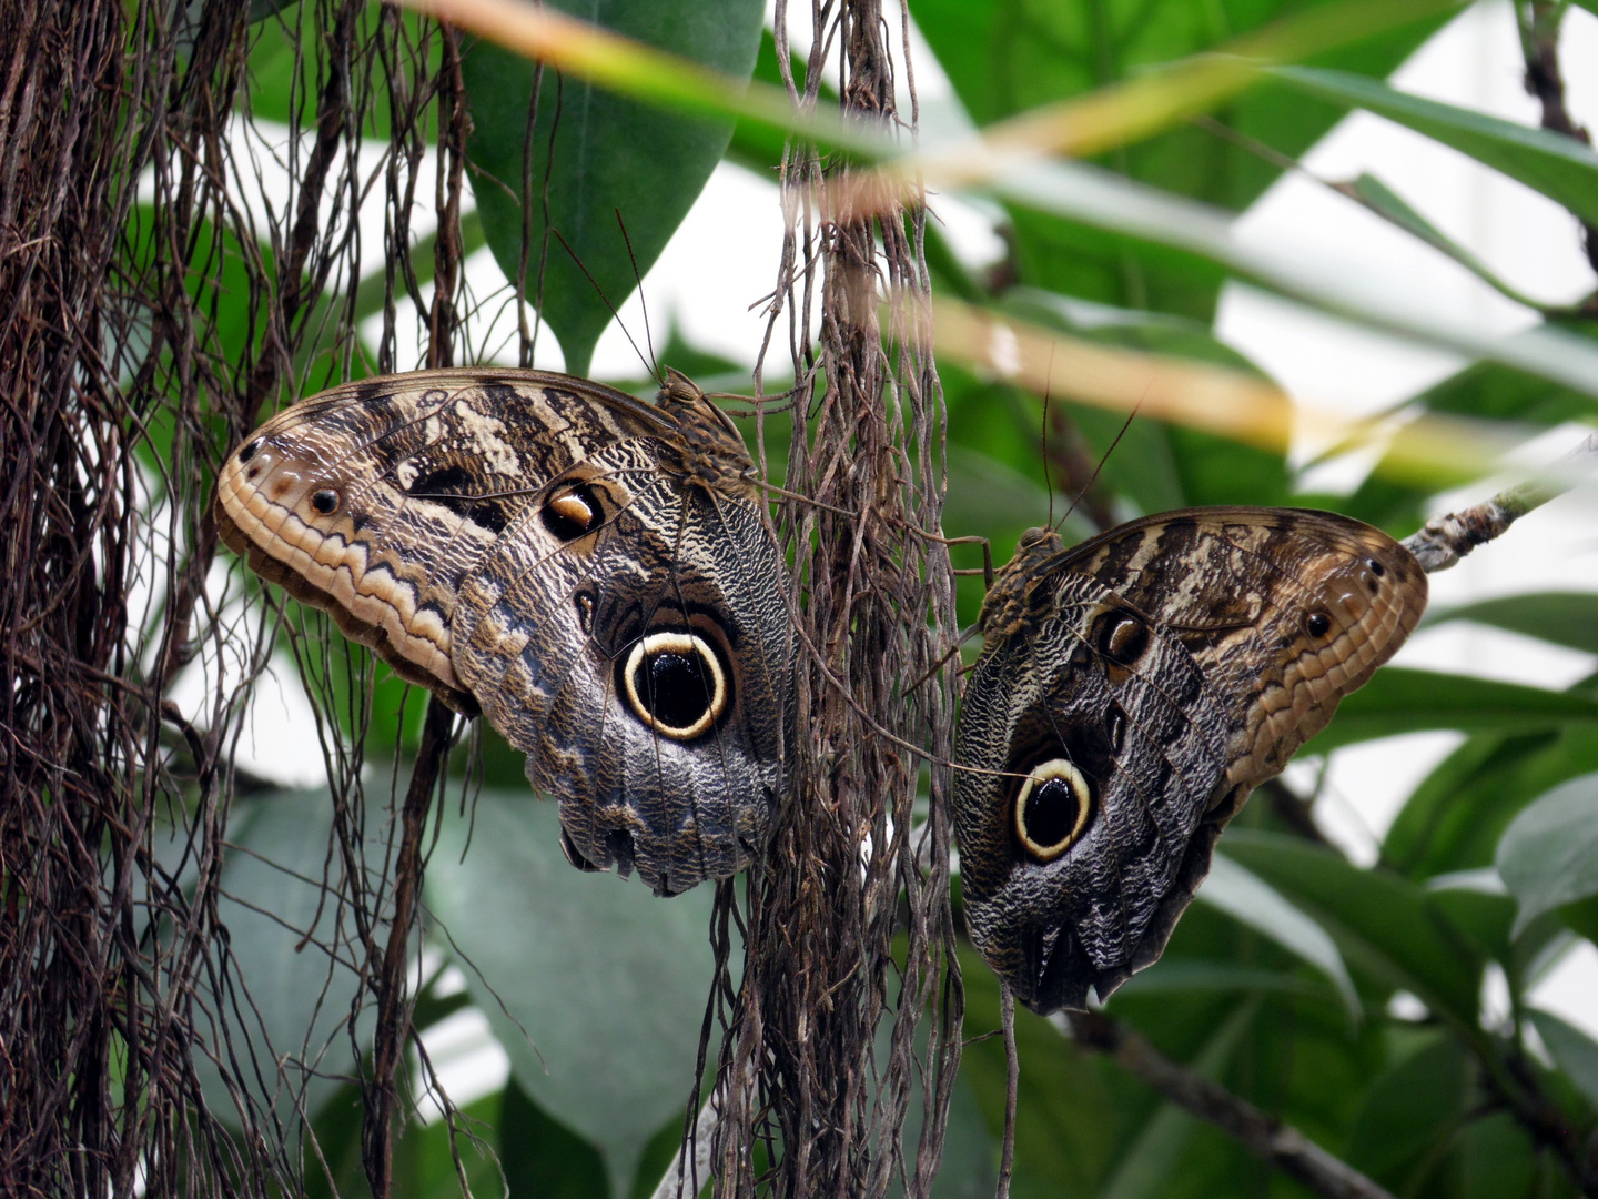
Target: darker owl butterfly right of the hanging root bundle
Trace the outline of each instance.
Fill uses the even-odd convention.
[[[1226,822],[1397,652],[1425,574],[1325,512],[1032,529],[983,603],[956,735],[972,940],[1037,1012],[1152,964]]]

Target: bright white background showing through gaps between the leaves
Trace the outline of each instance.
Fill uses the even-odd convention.
[[[802,53],[804,46],[796,45],[796,50]],[[935,109],[940,121],[962,120],[948,80],[925,43],[916,50],[924,109]],[[1561,53],[1569,110],[1579,123],[1598,126],[1598,18],[1572,6]],[[1507,0],[1465,11],[1392,80],[1406,91],[1526,125],[1539,120],[1537,104],[1521,88],[1520,48]],[[1302,166],[1307,176],[1318,179],[1352,179],[1360,171],[1376,174],[1510,283],[1547,302],[1568,302],[1593,288],[1576,222],[1563,208],[1379,117],[1350,115],[1304,157]],[[933,209],[962,257],[978,264],[1000,253],[980,205],[940,197]],[[369,245],[380,249],[380,214],[377,219]],[[757,302],[777,278],[781,229],[773,182],[729,163],[718,166],[644,278],[657,345],[665,341],[668,325],[676,323],[690,344],[753,366],[764,336]],[[1238,232],[1245,240],[1272,245],[1283,238],[1306,243],[1323,256],[1334,254],[1350,270],[1368,272],[1397,294],[1501,333],[1537,320],[1462,267],[1306,174],[1280,179],[1238,219]],[[467,273],[478,296],[503,286],[486,249],[468,259]],[[409,326],[404,315],[400,328]],[[638,296],[622,307],[622,320],[634,337],[641,336],[644,321]],[[1294,396],[1350,416],[1385,408],[1461,364],[1445,353],[1403,345],[1240,285],[1227,285],[1222,293],[1218,333]],[[510,334],[510,313],[503,313],[499,328],[476,329],[473,344],[507,345],[510,357],[502,360],[513,361]],[[783,337],[780,333],[772,350],[773,371],[785,369],[788,361]],[[540,337],[537,364],[559,369],[553,336]],[[638,357],[615,325],[599,341],[593,372],[599,377],[641,372]],[[1571,432],[1542,438],[1529,460],[1555,457]],[[1318,486],[1336,481],[1336,468],[1317,478]],[[1352,486],[1357,476],[1344,468],[1342,481]],[[1491,489],[1483,484],[1448,497],[1448,507],[1477,502]],[[1598,590],[1598,488],[1555,500],[1521,520],[1502,540],[1477,550],[1459,568],[1432,577],[1437,606],[1528,590]],[[1588,654],[1473,625],[1424,631],[1397,660],[1545,687],[1568,686],[1598,668],[1598,660]],[[291,673],[278,687],[262,686],[240,745],[240,764],[283,783],[321,782],[320,755],[294,755],[286,748],[315,745],[315,735],[307,737],[310,719]],[[1376,844],[1403,798],[1459,740],[1448,732],[1416,734],[1338,751],[1328,767],[1317,820],[1355,860],[1374,860]],[[1294,771],[1304,769],[1294,766]],[[1598,1036],[1598,951],[1584,945],[1569,954],[1532,999]],[[435,1062],[439,1054],[447,1058],[441,1063],[444,1081],[457,1101],[497,1089],[505,1079],[503,1050],[492,1042],[476,1012],[457,1014],[428,1038],[428,1044]]]

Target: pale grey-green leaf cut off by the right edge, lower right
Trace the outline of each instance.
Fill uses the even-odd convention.
[[[1520,900],[1515,932],[1544,911],[1598,894],[1598,774],[1555,787],[1517,815],[1496,865]]]

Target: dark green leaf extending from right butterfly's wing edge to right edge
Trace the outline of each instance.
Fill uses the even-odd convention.
[[[1339,745],[1422,729],[1512,734],[1595,721],[1598,700],[1587,695],[1470,675],[1384,667],[1342,700],[1336,719],[1309,742],[1304,753],[1326,753]]]

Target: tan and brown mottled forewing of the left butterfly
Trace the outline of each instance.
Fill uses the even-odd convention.
[[[598,441],[663,425],[631,396],[593,388],[585,398],[548,387],[553,379],[420,372],[297,404],[246,443],[257,448],[249,462],[235,456],[224,468],[224,534],[254,545],[257,561],[276,560],[276,574],[300,576],[302,598],[406,678],[475,710],[449,657],[460,579],[527,502],[527,483],[586,452],[578,433]],[[511,412],[529,419],[507,422]],[[566,440],[545,441],[550,425]],[[286,488],[268,486],[273,473]],[[305,497],[324,486],[340,508],[318,521]]]

